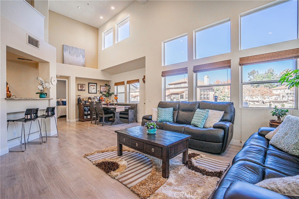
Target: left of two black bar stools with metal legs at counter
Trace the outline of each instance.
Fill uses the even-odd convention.
[[[39,120],[38,120],[38,109],[39,108],[34,108],[34,109],[26,109],[25,111],[25,118],[20,118],[20,119],[16,119],[16,120],[7,120],[7,130],[8,130],[8,125],[10,122],[22,122],[22,130],[21,130],[21,136],[17,137],[17,138],[21,138],[21,144],[22,143],[22,133],[24,133],[24,144],[25,144],[25,149],[22,151],[9,151],[9,152],[24,152],[26,151],[26,133],[25,133],[25,123],[30,122],[30,128],[29,128],[29,134],[30,134],[30,130],[31,130],[31,124],[33,121],[37,121],[38,125],[39,125],[39,131],[36,132],[40,132],[40,137],[42,138],[42,130],[40,128],[40,124],[39,124]],[[36,132],[32,132],[32,133],[36,133]],[[29,139],[29,134],[28,134],[28,139]],[[17,139],[17,138],[12,138],[10,140],[13,139]],[[28,141],[27,139],[27,141]],[[7,140],[7,141],[10,141]],[[43,140],[41,142],[28,142],[29,144],[42,144]]]

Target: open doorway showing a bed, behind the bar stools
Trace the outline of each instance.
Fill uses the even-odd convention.
[[[57,76],[56,99],[57,122],[68,122],[68,77]]]

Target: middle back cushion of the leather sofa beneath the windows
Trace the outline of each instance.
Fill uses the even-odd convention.
[[[196,109],[199,108],[199,101],[186,102],[181,101],[176,122],[179,124],[191,124]]]

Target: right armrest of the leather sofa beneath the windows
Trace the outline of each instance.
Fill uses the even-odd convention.
[[[220,151],[220,154],[221,154],[221,153],[225,152],[229,143],[231,142],[231,139],[233,138],[234,125],[233,125],[233,123],[228,122],[228,121],[221,121],[221,122],[215,123],[213,125],[213,128],[224,130],[223,144],[222,144],[222,149]]]

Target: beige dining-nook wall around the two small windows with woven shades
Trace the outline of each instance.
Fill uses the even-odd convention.
[[[120,74],[112,75],[112,81],[110,81],[111,91],[115,92],[115,82],[125,81],[125,103],[129,103],[129,88],[126,82],[132,79],[139,79],[140,91],[139,91],[139,104],[137,105],[137,119],[141,121],[142,116],[145,115],[145,84],[142,82],[143,75],[145,75],[145,68],[138,70],[132,70],[129,72],[123,72]]]

